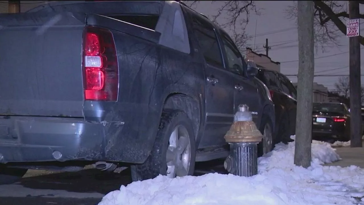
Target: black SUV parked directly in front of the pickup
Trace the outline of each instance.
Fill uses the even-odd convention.
[[[256,76],[269,89],[276,113],[276,140],[291,142],[290,135],[296,132],[297,90],[283,74],[267,69],[258,69]]]

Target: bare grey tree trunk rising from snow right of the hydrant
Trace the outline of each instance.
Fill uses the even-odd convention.
[[[297,1],[298,82],[294,164],[311,166],[314,70],[313,1]]]

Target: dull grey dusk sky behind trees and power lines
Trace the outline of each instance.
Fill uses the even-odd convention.
[[[343,1],[346,3],[347,1]],[[294,19],[288,19],[285,9],[289,5],[293,5],[293,1],[255,1],[258,9],[261,9],[260,15],[252,13],[249,18],[246,31],[249,35],[255,36],[255,46],[257,53],[265,54],[262,46],[265,39],[268,38],[268,44],[272,47],[269,50],[269,57],[272,61],[281,62],[281,73],[286,75],[295,75],[298,73],[298,33],[297,24]],[[211,1],[200,1],[195,10],[210,17],[216,14],[221,4]],[[364,7],[361,7],[364,11]],[[219,22],[223,22],[224,18],[220,18]],[[221,23],[222,23],[221,22]],[[360,22],[362,23],[362,22]],[[363,25],[363,24],[362,24]],[[364,32],[364,28],[361,29]],[[349,39],[346,35],[338,32],[342,37],[338,38],[340,47],[325,46],[325,52],[318,49],[315,53],[315,74],[331,74],[331,75],[348,75],[349,74]],[[362,34],[363,35],[363,34]],[[254,45],[254,38],[250,40],[250,45]],[[361,46],[363,48],[363,46]],[[331,56],[331,57],[327,57]],[[361,52],[361,59],[364,57],[364,50]],[[290,62],[286,62],[290,61]],[[364,62],[361,62],[364,65]],[[348,67],[345,67],[348,66]],[[339,69],[340,68],[340,69]],[[324,71],[330,70],[331,71]],[[321,72],[322,71],[322,72]],[[361,69],[362,74],[363,68]],[[297,77],[289,77],[292,82],[297,82]],[[334,90],[334,84],[338,77],[314,77],[314,82],[323,84],[329,90]],[[361,77],[364,84],[364,76]]]

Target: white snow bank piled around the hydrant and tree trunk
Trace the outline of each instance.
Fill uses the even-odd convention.
[[[205,174],[133,182],[99,205],[353,205],[364,204],[364,169],[323,166],[339,160],[329,143],[312,142],[311,167],[293,165],[294,142],[258,159],[259,174]],[[363,201],[362,201],[363,198]]]

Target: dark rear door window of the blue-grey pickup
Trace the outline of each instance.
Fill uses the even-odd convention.
[[[206,20],[192,16],[193,30],[206,63],[222,67],[221,50],[217,41],[214,27]]]

